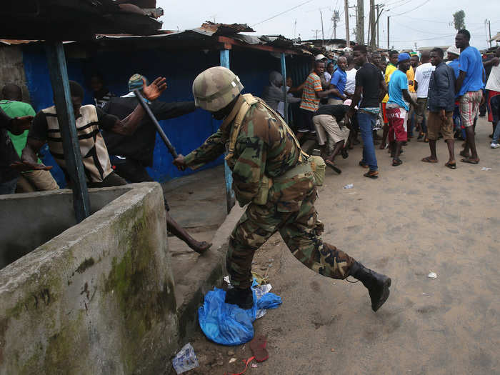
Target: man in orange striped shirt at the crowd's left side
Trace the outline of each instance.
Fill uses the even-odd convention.
[[[320,76],[323,76],[325,71],[324,62],[321,60],[314,61],[314,70],[307,76],[302,92],[302,101],[300,104],[301,121],[297,125],[297,138],[301,140],[307,133],[316,134],[312,118],[314,112],[319,109],[319,100],[325,98],[333,92],[333,89],[323,91],[321,87]]]

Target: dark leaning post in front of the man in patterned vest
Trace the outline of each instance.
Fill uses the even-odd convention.
[[[79,223],[90,215],[90,200],[84,164],[81,161],[81,151],[76,134],[64,48],[61,41],[46,41],[45,47],[49,63],[49,76],[54,91],[54,104],[56,104],[57,109],[57,121],[59,121],[59,128],[61,129],[66,172],[71,179],[73,206],[76,222]]]

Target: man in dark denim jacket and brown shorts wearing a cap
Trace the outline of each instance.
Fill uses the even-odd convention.
[[[422,159],[427,163],[437,163],[436,141],[439,133],[443,135],[448,144],[449,160],[444,164],[448,168],[456,169],[455,139],[453,136],[453,111],[455,107],[455,72],[453,68],[444,64],[444,52],[440,48],[431,51],[431,64],[436,69],[431,74],[427,109],[429,117],[427,123],[427,136],[431,156]]]

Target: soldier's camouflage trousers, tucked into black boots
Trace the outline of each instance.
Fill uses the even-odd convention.
[[[255,251],[279,231],[291,254],[309,269],[332,279],[346,279],[354,259],[335,246],[323,242],[324,226],[314,208],[316,188],[302,201],[299,211],[279,212],[276,204],[251,203],[229,239],[226,267],[231,284],[239,288],[251,286],[251,261]]]

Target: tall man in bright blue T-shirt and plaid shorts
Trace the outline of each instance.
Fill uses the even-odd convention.
[[[459,78],[456,80],[456,94],[459,96],[460,116],[466,132],[466,146],[460,152],[464,163],[478,164],[479,156],[474,140],[474,118],[479,106],[484,102],[483,96],[483,60],[479,51],[469,45],[471,34],[462,29],[455,36],[455,46],[460,49]],[[469,149],[471,154],[469,155]]]

